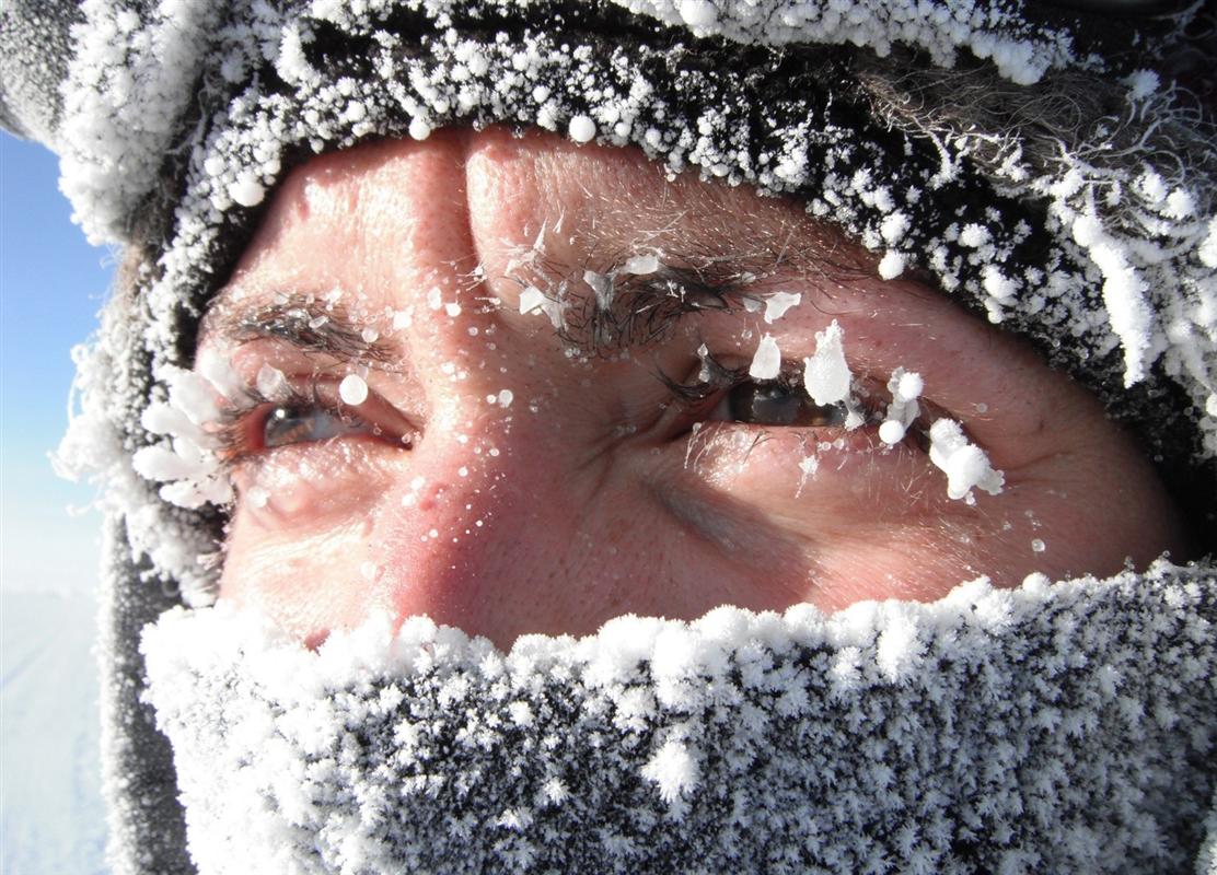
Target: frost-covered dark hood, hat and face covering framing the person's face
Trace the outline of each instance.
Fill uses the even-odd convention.
[[[106,484],[116,871],[1217,871],[1211,563],[621,618],[510,654],[372,618],[309,651],[208,607],[229,492],[181,400],[200,314],[290,168],[539,127],[795,195],[884,277],[921,271],[1028,337],[1142,433],[1212,549],[1211,6],[0,16],[0,120],[61,155],[89,237],[128,248],[62,450]]]

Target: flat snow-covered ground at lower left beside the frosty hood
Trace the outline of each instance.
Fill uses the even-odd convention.
[[[0,590],[0,871],[103,873],[96,606]]]

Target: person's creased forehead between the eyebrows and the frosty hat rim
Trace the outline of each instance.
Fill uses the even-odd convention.
[[[869,260],[796,202],[694,173],[673,176],[635,148],[447,131],[297,169],[220,301],[341,287],[376,305],[403,287],[483,279],[510,298],[515,284],[497,281],[540,239],[549,262],[578,271],[656,249],[701,269],[758,275],[829,263],[864,270]]]

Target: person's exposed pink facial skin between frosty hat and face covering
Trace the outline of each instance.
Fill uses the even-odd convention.
[[[544,263],[521,267],[543,226]],[[593,359],[568,355],[544,315],[520,313],[518,277],[578,281],[652,247],[797,253],[755,288],[803,303],[773,325],[742,310],[691,316],[662,344]],[[828,257],[837,267],[825,270]],[[944,296],[879,280],[874,263],[796,204],[666,180],[634,151],[548,135],[444,133],[310,162],[277,191],[202,347],[246,382],[271,363],[332,399],[357,365],[220,326],[280,293],[341,288],[352,320],[391,349],[354,409],[386,433],[359,426],[263,450],[268,405],[247,416],[221,595],[309,641],[387,608],[506,646],[627,612],[832,610],[933,599],[980,574],[1014,585],[1032,571],[1106,574],[1179,555],[1162,487],[1094,399]],[[459,313],[433,309],[432,290]],[[393,312],[409,312],[409,326],[394,330]],[[655,377],[691,378],[702,342],[746,365],[764,332],[797,363],[834,319],[857,378],[922,375],[924,398],[1004,471],[1002,494],[948,499],[921,450],[886,448],[873,426],[717,422],[694,437],[707,411],[669,404]],[[504,389],[510,406],[487,402]],[[804,477],[798,464],[814,454]]]

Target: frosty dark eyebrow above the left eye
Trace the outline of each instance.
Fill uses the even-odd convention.
[[[396,347],[378,337],[366,340],[365,327],[342,305],[296,292],[254,309],[232,304],[213,308],[203,316],[200,333],[236,342],[270,337],[347,361],[393,363]]]

